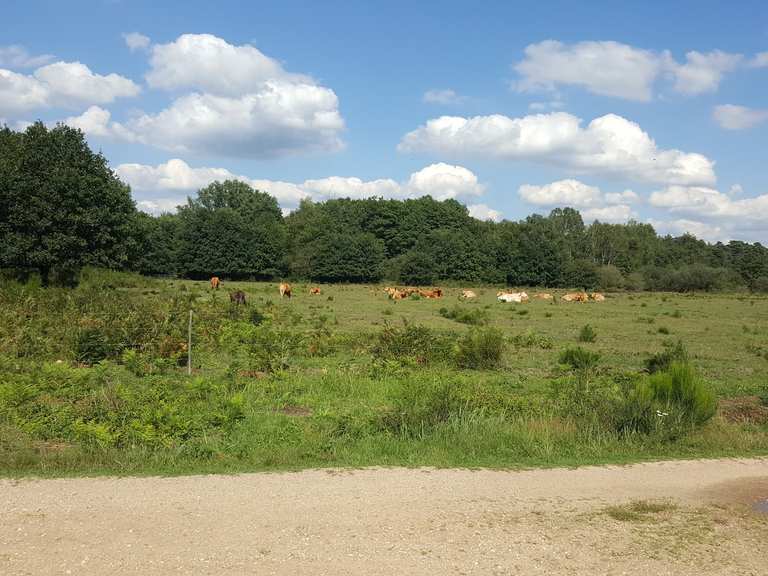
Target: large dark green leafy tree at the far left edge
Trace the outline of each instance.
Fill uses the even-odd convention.
[[[130,189],[80,130],[0,130],[0,267],[36,270],[44,284],[122,267],[135,215]]]

